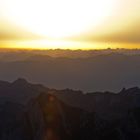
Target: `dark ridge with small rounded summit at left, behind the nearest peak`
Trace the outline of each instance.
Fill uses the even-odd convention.
[[[28,83],[25,79],[19,78],[13,83],[0,81],[0,103],[14,101],[25,104],[32,97],[40,92],[47,92],[48,88],[40,84]]]

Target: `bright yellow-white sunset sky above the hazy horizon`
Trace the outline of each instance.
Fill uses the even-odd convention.
[[[140,48],[140,0],[0,0],[0,47]]]

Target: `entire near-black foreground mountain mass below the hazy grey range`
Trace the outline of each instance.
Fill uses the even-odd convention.
[[[140,89],[56,90],[0,81],[0,140],[139,140]]]

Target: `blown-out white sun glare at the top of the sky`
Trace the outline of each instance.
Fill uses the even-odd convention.
[[[117,0],[3,0],[5,16],[48,38],[65,38],[95,28],[111,15]]]

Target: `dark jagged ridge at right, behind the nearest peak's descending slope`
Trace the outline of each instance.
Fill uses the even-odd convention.
[[[54,94],[67,104],[96,112],[103,119],[120,119],[128,110],[140,107],[140,89],[138,87],[123,89],[119,93],[94,92],[83,94],[81,91],[59,90]]]

